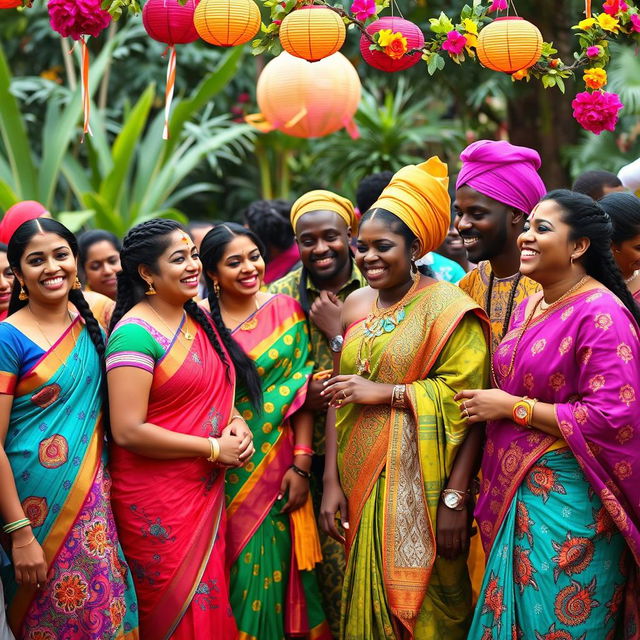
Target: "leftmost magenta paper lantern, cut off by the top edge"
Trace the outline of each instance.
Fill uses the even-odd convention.
[[[183,6],[178,0],[148,0],[142,10],[146,32],[158,42],[169,46],[195,42],[199,36],[193,24],[196,0]]]

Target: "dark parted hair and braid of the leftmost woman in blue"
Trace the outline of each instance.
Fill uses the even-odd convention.
[[[36,218],[35,220],[28,220],[21,224],[14,234],[11,236],[9,246],[7,248],[7,259],[9,266],[14,273],[20,273],[20,260],[24,255],[32,238],[38,233],[54,233],[62,238],[71,249],[71,253],[74,258],[78,257],[78,241],[76,237],[67,229],[63,224],[57,220],[51,218]],[[13,282],[13,289],[11,290],[11,301],[9,302],[9,315],[16,311],[26,307],[28,300],[20,300],[21,285],[16,278]],[[28,292],[27,292],[28,293]],[[100,324],[96,320],[95,316],[91,312],[89,304],[87,303],[84,294],[81,289],[71,289],[69,291],[69,301],[77,309],[78,313],[84,320],[85,327],[89,333],[89,338],[93,342],[93,346],[98,354],[100,362],[100,370],[102,372],[100,393],[102,396],[102,408],[104,415],[105,431],[109,433],[109,416],[108,416],[108,403],[107,403],[107,374],[105,369],[105,344],[104,333],[100,327]]]

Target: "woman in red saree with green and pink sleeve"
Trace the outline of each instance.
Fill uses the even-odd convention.
[[[112,504],[138,594],[140,635],[235,640],[224,467],[253,453],[233,406],[236,373],[259,397],[254,378],[246,379],[253,369],[193,302],[200,260],[177,223],[138,225],[121,258],[107,347]]]

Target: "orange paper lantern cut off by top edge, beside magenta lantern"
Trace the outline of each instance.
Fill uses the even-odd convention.
[[[235,47],[258,33],[260,10],[253,0],[200,0],[193,23],[209,44]]]

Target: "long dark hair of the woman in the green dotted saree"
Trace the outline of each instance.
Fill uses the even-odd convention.
[[[264,256],[264,245],[260,239],[249,229],[236,224],[235,222],[226,222],[224,224],[216,225],[202,240],[200,245],[200,259],[202,260],[202,267],[204,269],[204,278],[209,291],[209,309],[211,310],[211,317],[216,329],[224,342],[224,346],[231,355],[231,359],[236,367],[236,373],[238,381],[247,390],[251,404],[256,410],[262,406],[262,385],[260,382],[260,376],[256,370],[255,363],[245,353],[244,349],[233,339],[231,332],[227,328],[222,319],[222,312],[220,311],[220,303],[218,296],[214,293],[213,280],[211,278],[212,273],[218,271],[218,265],[224,250],[227,245],[237,236],[246,236],[253,242],[260,255]]]

